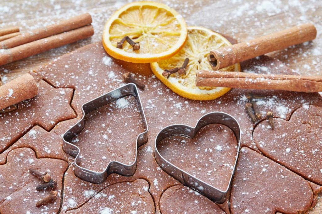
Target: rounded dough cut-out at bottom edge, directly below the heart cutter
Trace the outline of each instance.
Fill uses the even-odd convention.
[[[160,199],[160,211],[168,213],[225,214],[215,203],[194,190],[178,185],[167,189]]]

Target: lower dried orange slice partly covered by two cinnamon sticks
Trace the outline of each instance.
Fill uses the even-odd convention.
[[[197,87],[198,70],[211,70],[207,60],[210,50],[230,46],[231,43],[219,33],[203,27],[188,27],[188,39],[185,46],[172,58],[151,63],[156,77],[176,94],[191,100],[213,100],[227,93],[230,88]],[[171,74],[169,78],[162,76],[165,69],[181,67],[185,58],[189,58],[185,74]],[[240,71],[239,63],[220,69],[220,71]]]

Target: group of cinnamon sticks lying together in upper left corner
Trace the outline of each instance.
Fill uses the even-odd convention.
[[[10,39],[0,40],[0,66],[88,38],[94,34],[91,22],[90,14],[85,13],[31,32],[19,32],[19,35]],[[10,35],[16,33],[17,28],[0,30],[0,36],[1,32]]]

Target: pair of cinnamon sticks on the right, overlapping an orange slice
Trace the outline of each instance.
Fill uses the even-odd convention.
[[[313,40],[316,35],[315,26],[306,23],[248,42],[213,50],[209,53],[208,60],[215,71],[198,71],[196,86],[322,92],[322,76],[265,75],[218,71],[223,67],[247,59]]]

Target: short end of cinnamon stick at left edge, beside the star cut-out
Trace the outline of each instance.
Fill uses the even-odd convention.
[[[38,94],[38,86],[30,74],[15,78],[0,87],[0,110]]]

